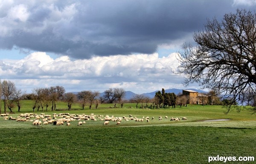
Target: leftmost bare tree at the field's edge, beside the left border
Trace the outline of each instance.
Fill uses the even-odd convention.
[[[6,113],[8,105],[9,105],[9,110],[12,112],[13,104],[10,103],[10,101],[11,101],[11,97],[14,96],[15,91],[16,91],[16,87],[14,82],[6,81],[6,80],[2,82],[4,113]]]

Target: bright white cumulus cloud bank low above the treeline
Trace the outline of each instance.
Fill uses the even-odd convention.
[[[0,61],[2,78],[14,80],[17,88],[28,91],[55,85],[67,91],[124,88],[134,93],[183,88],[183,76],[172,72],[176,68],[175,53],[162,58],[154,53],[71,60],[34,52],[18,61]]]

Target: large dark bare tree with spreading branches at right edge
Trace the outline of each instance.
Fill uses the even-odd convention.
[[[221,21],[207,20],[204,27],[193,36],[195,46],[183,45],[177,73],[186,76],[185,85],[196,82],[221,91],[229,112],[234,103],[244,102],[244,90],[256,91],[256,14],[238,9]]]

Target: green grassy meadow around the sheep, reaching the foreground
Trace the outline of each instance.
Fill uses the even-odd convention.
[[[98,109],[65,110],[63,102],[57,111],[34,113],[70,113],[113,115],[115,117],[150,117],[150,121],[122,120],[120,125],[88,120],[82,126],[72,121],[70,126],[52,124],[35,126],[32,122],[3,120],[0,117],[0,164],[203,164],[209,156],[256,157],[256,115],[248,110],[232,111],[227,115],[221,106],[188,105],[175,109],[136,109],[136,104],[123,108],[113,104],[99,105]],[[3,111],[3,107],[2,107]],[[9,116],[32,113],[32,102],[24,101],[21,112],[17,109]],[[162,116],[162,120],[158,117]],[[165,119],[168,116],[168,119]],[[152,120],[151,118],[154,117]],[[179,122],[171,117],[187,117]],[[212,119],[229,121],[204,122]],[[211,163],[223,163],[212,161]],[[230,161],[227,163],[254,163]]]

